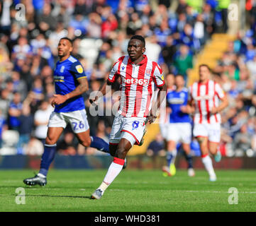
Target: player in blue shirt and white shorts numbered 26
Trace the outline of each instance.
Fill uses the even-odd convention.
[[[79,143],[109,153],[108,143],[99,137],[89,136],[89,124],[82,97],[82,93],[88,90],[88,81],[80,62],[71,56],[72,41],[67,37],[60,39],[57,50],[60,61],[57,61],[54,71],[56,94],[52,106],[55,110],[48,122],[40,171],[35,177],[23,180],[28,185],[47,184],[46,176],[55,157],[56,143],[67,124],[70,124],[72,131],[77,135]]]

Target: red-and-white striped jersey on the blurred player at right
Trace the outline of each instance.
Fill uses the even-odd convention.
[[[210,112],[212,107],[218,107],[220,100],[225,96],[221,85],[212,80],[204,84],[196,82],[189,87],[189,93],[196,105],[194,123],[221,123],[221,114]]]

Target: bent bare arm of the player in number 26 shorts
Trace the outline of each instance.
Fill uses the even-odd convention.
[[[87,78],[80,78],[77,80],[79,85],[72,92],[67,93],[66,95],[55,94],[53,95],[52,106],[61,105],[66,100],[69,100],[72,97],[77,97],[78,95],[82,95],[84,92],[87,92],[89,89]]]

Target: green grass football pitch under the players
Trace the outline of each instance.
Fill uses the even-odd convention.
[[[125,169],[101,200],[89,199],[106,170],[51,169],[45,187],[23,184],[33,177],[32,169],[0,170],[0,212],[256,211],[256,170],[216,170],[217,182],[209,182],[204,170],[196,170],[196,177],[179,169],[174,177],[163,177],[159,169]],[[235,201],[235,193],[228,193],[232,187],[238,190],[238,204],[228,202]],[[22,200],[25,204],[16,204]]]

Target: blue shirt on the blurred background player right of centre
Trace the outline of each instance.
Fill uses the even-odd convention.
[[[181,123],[181,122],[191,122],[189,114],[184,113],[180,110],[180,107],[186,106],[189,93],[187,88],[177,92],[176,90],[171,90],[167,93],[167,107],[172,109],[172,112],[169,114],[170,123]]]

